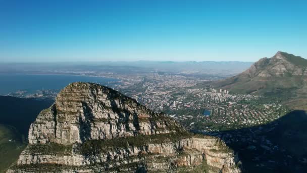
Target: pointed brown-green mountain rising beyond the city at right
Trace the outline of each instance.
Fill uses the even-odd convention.
[[[295,109],[307,109],[307,60],[277,52],[262,58],[244,72],[210,83],[232,93],[278,96]]]

